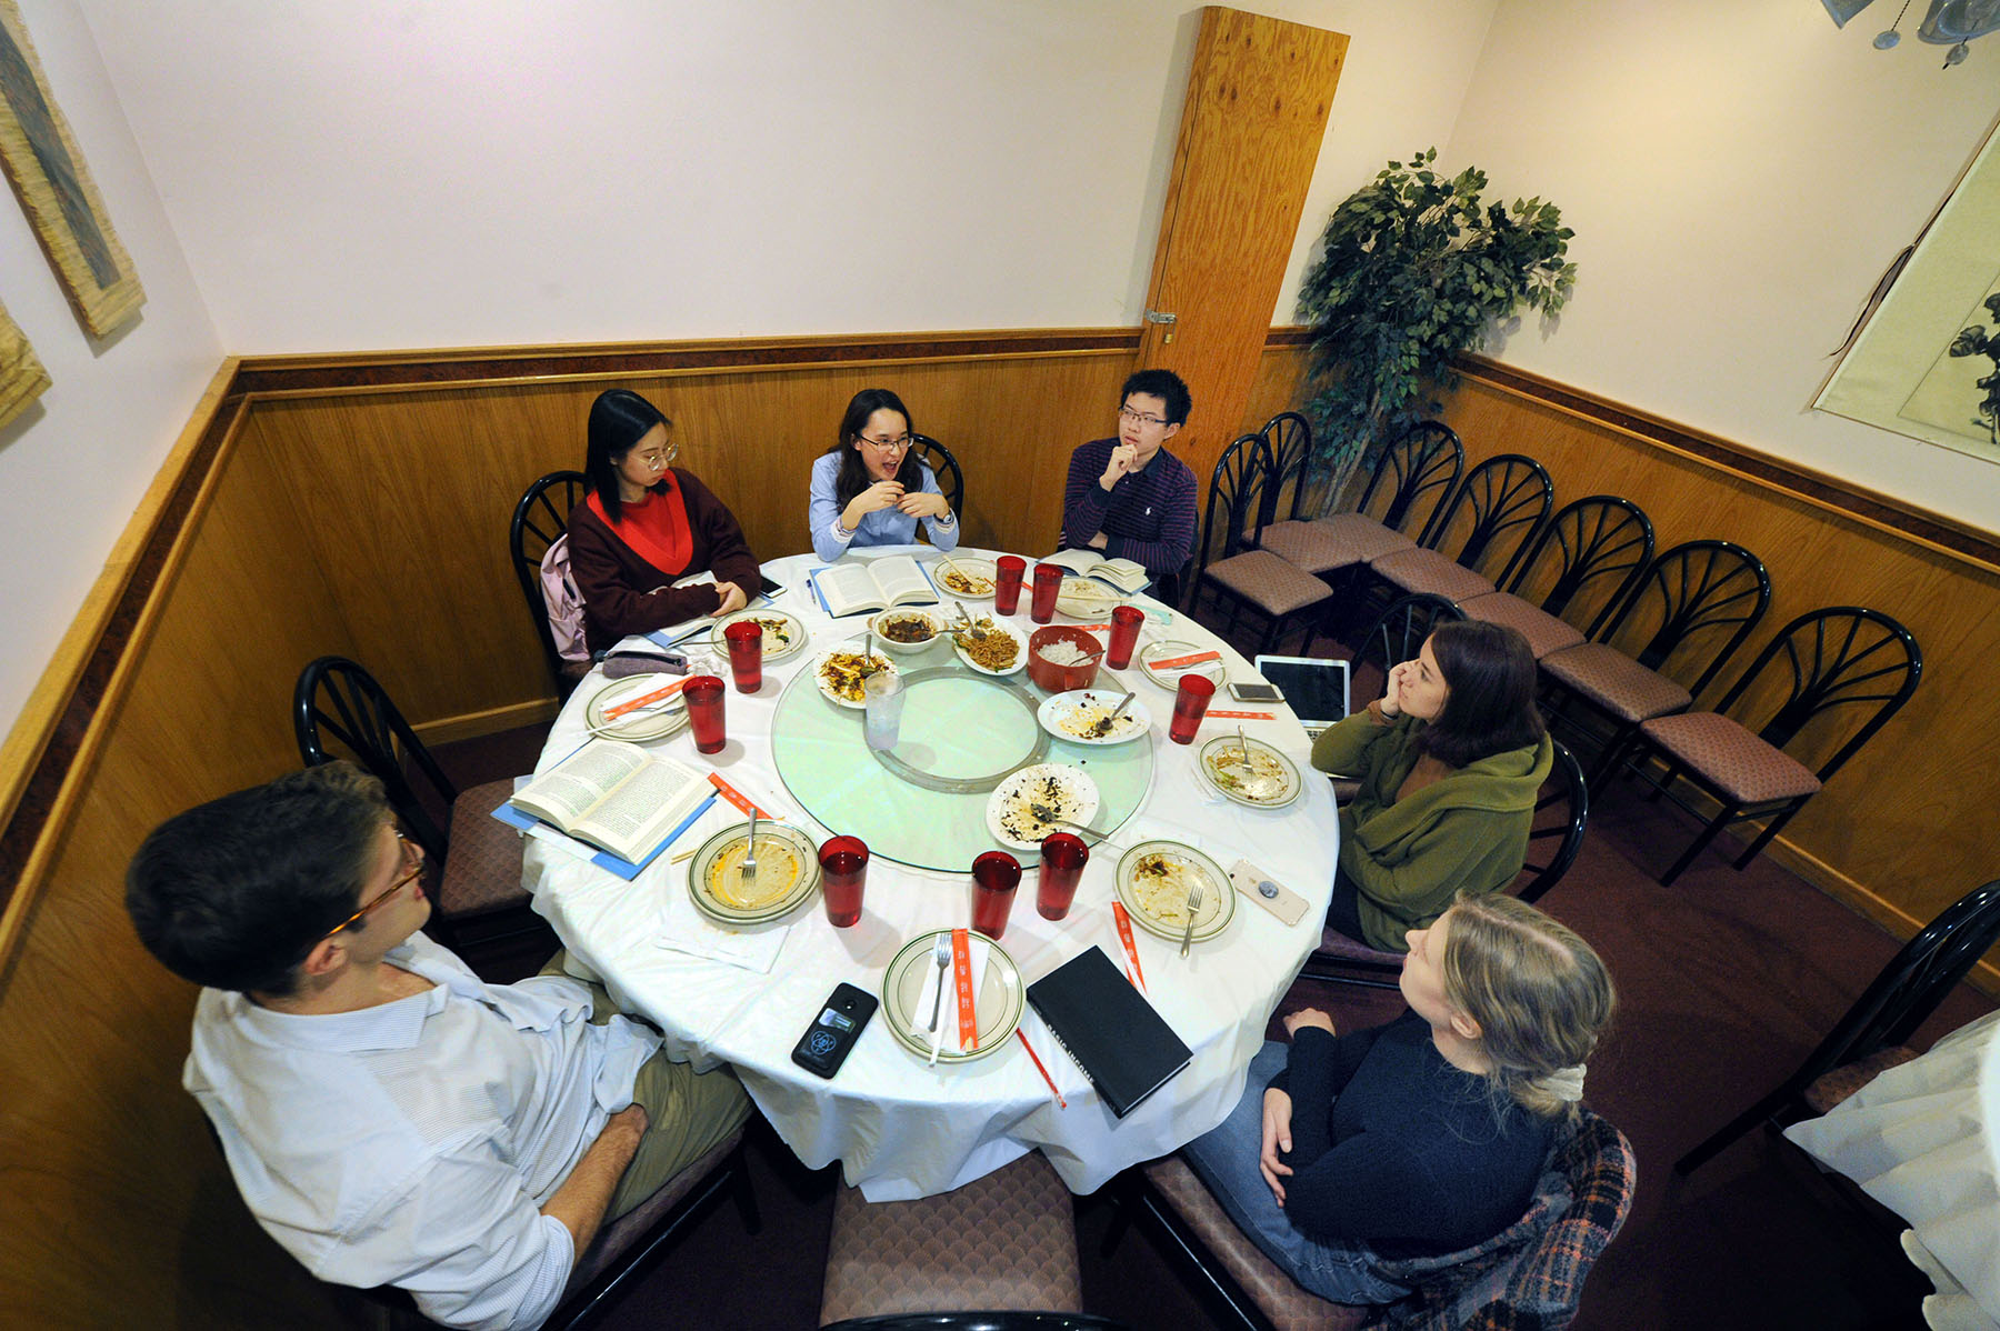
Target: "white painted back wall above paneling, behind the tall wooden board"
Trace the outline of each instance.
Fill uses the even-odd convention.
[[[1192,0],[84,0],[236,352],[1130,326]],[[1494,0],[1354,38],[1292,264]],[[1294,298],[1280,310],[1290,318]]]

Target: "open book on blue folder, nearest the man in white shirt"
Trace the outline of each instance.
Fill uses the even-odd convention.
[[[514,827],[532,827],[540,819],[608,851],[630,873],[606,863],[604,855],[596,857],[598,863],[620,877],[634,877],[714,797],[714,785],[698,771],[636,743],[590,739],[514,791],[494,817]]]

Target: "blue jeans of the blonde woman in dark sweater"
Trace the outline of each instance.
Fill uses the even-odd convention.
[[[1230,1117],[1184,1145],[1182,1155],[1236,1227],[1300,1287],[1334,1303],[1394,1303],[1410,1291],[1374,1273],[1374,1253],[1366,1243],[1320,1243],[1298,1233],[1258,1169],[1264,1149],[1264,1085],[1284,1071],[1284,1061],[1286,1047],[1266,1043],[1250,1059],[1244,1097],[1230,1109]]]

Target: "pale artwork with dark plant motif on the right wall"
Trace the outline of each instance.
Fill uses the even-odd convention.
[[[2000,130],[1918,236],[1812,406],[2000,462],[2000,358],[1988,348],[2000,352]]]

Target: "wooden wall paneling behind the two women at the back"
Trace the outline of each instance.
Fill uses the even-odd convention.
[[[964,540],[1054,550],[1070,450],[1116,428],[1130,352],[626,378],[760,558],[808,550],[806,484],[860,388],[894,388],[966,472]],[[282,458],[306,544],[374,671],[446,733],[522,723],[550,697],[506,528],[528,482],[582,468],[604,382],[256,402],[244,446]],[[292,664],[292,669],[304,660]]]

